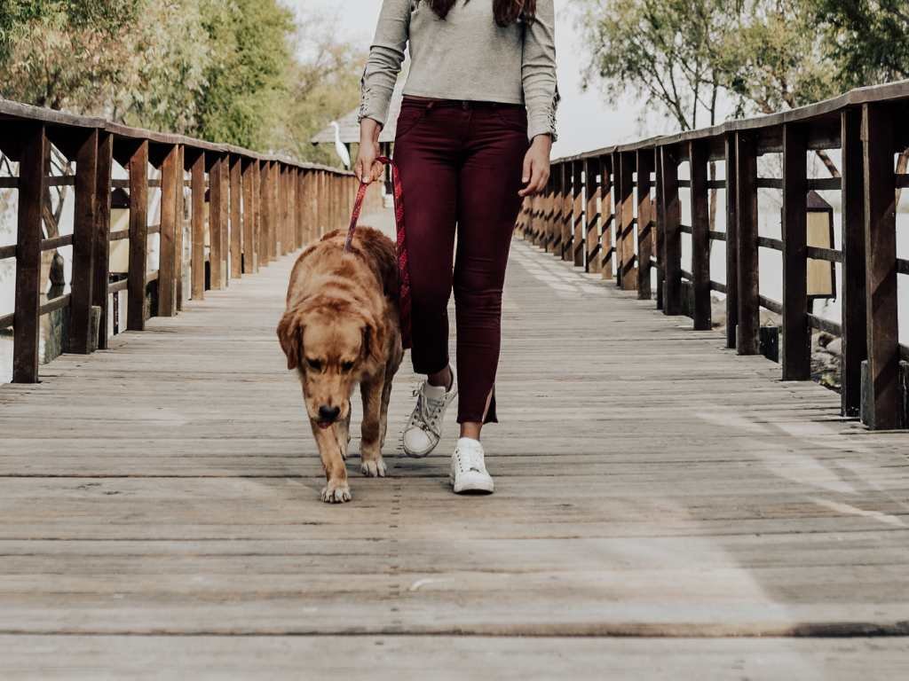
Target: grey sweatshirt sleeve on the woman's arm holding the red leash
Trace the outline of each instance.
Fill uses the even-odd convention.
[[[404,62],[410,28],[411,0],[384,0],[375,39],[360,81],[359,120],[372,118],[385,126],[397,75]]]

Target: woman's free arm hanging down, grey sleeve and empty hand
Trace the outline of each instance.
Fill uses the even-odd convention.
[[[524,158],[522,196],[543,191],[549,180],[549,154],[555,141],[555,10],[553,0],[538,0],[536,17],[524,30],[521,77],[527,105],[530,150]]]

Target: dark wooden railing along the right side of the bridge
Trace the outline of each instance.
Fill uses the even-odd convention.
[[[909,350],[898,341],[897,278],[909,274],[909,262],[896,257],[895,207],[909,175],[897,173],[895,157],[907,147],[909,82],[864,88],[783,114],[559,159],[547,191],[524,203],[518,231],[642,299],[652,297],[653,273],[657,308],[669,315],[688,309],[697,330],[711,327],[711,291],[724,293],[726,344],[742,355],[759,352],[760,309],[780,314],[784,380],[810,379],[812,329],[841,337],[843,414],[861,412],[874,429],[905,428],[901,358]],[[809,153],[836,149],[842,176],[809,177]],[[765,154],[782,156],[782,177],[759,176]],[[711,163],[726,179],[709,179]],[[685,165],[687,180],[679,173]],[[762,188],[782,192],[782,239],[758,231]],[[681,189],[689,190],[690,225],[682,223]],[[712,190],[725,192],[724,232],[711,228]],[[807,244],[811,190],[841,192],[841,249]],[[682,268],[683,234],[691,240],[691,271]],[[724,282],[711,278],[712,241],[725,243]],[[782,301],[761,295],[760,248],[782,252]],[[839,322],[809,309],[809,259],[842,268]],[[683,289],[691,292],[689,305]]]

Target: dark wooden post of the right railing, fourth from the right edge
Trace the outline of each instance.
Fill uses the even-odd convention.
[[[735,207],[738,251],[738,333],[740,355],[760,351],[761,324],[757,252],[757,145],[749,133],[735,133]]]

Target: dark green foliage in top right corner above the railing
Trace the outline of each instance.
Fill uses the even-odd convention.
[[[906,0],[813,0],[824,50],[846,88],[909,78]]]

